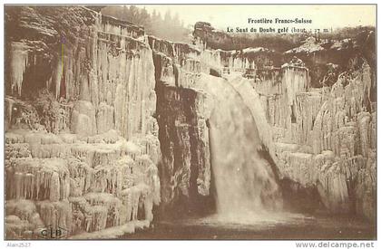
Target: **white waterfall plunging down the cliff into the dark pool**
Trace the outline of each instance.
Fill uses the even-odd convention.
[[[203,87],[214,99],[210,147],[219,218],[242,222],[278,210],[280,191],[269,162],[259,154],[259,131],[249,108],[226,80]]]

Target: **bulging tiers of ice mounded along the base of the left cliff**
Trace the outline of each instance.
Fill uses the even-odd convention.
[[[62,145],[57,148],[59,154],[10,155],[6,162],[7,215],[21,220],[39,215],[43,226],[59,226],[70,231],[70,235],[138,219],[152,220],[151,208],[160,202],[160,181],[156,165],[143,154],[147,150],[141,145],[121,137],[112,143],[66,143],[52,133],[23,134],[18,130],[6,137],[5,148],[11,151],[15,151],[15,145],[28,145],[25,150],[31,146],[44,150],[44,146]],[[19,137],[26,143],[13,139]],[[17,211],[14,206],[25,206],[25,201],[30,206],[28,210]]]

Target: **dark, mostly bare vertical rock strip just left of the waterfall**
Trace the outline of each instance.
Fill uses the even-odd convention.
[[[157,116],[161,140],[161,212],[183,216],[202,212],[210,196],[207,92],[200,79],[200,52],[185,43],[149,37],[156,69]],[[196,59],[193,59],[196,58]],[[165,211],[167,210],[167,211]],[[171,212],[168,212],[171,210]],[[208,211],[207,211],[208,212]]]

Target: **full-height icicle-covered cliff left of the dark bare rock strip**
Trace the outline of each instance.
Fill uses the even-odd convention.
[[[7,237],[149,225],[160,148],[142,27],[79,6],[5,14]]]

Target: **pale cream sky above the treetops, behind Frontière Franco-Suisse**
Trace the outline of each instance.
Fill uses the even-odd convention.
[[[161,15],[171,10],[178,13],[184,24],[209,22],[215,28],[269,27],[274,24],[248,24],[248,18],[311,19],[309,28],[337,28],[357,25],[376,25],[375,5],[140,5],[151,13]],[[284,24],[279,24],[282,26]],[[300,25],[300,24],[299,24]],[[293,26],[293,24],[288,26]],[[276,25],[277,27],[277,25]]]

